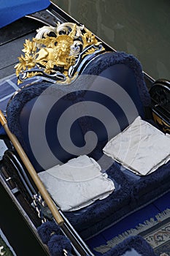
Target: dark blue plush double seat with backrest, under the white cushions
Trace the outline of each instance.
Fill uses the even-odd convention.
[[[104,53],[67,86],[43,82],[19,91],[7,107],[7,121],[41,172],[80,154],[102,164],[102,148],[108,140],[136,116],[147,120],[149,107],[150,95],[139,61],[126,53]],[[95,235],[166,192],[170,188],[169,165],[139,177],[116,162],[108,163],[106,171],[115,182],[115,191],[87,208],[66,212],[66,217],[82,238]]]

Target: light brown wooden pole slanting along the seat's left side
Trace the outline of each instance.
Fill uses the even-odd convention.
[[[22,146],[20,145],[18,139],[15,137],[15,135],[10,132],[9,127],[7,125],[7,120],[4,117],[4,114],[0,110],[0,122],[1,125],[4,127],[5,132],[7,132],[7,135],[9,139],[12,141],[16,151],[18,152],[20,159],[22,159],[23,164],[26,166],[26,169],[28,170],[28,173],[30,174],[31,178],[33,179],[34,183],[36,184],[36,187],[39,189],[40,194],[45,200],[45,203],[47,203],[47,206],[50,208],[51,213],[53,214],[53,217],[55,221],[58,223],[58,225],[63,225],[63,218],[61,217],[61,214],[59,213],[58,209],[55,206],[55,203],[53,202],[52,198],[50,197],[49,193],[47,192],[47,189],[45,188],[44,184],[42,184],[42,181],[40,180],[39,176],[36,173],[36,170],[34,169],[33,165],[31,164],[30,160],[28,159],[25,151],[23,150]]]

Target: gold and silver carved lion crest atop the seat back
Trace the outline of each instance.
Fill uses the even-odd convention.
[[[58,83],[70,83],[85,61],[104,51],[101,42],[84,26],[58,23],[43,26],[36,37],[23,45],[19,63],[15,66],[18,83],[35,75]]]

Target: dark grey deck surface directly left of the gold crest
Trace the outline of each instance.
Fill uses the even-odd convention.
[[[28,24],[28,26],[27,26]],[[0,79],[15,73],[15,64],[23,53],[23,43],[36,34],[42,23],[28,18],[21,18],[0,29]]]

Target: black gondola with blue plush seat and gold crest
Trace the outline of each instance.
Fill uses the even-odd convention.
[[[136,125],[149,126],[169,145],[170,82],[154,80],[134,56],[117,52],[50,2],[7,26],[22,26],[23,34],[4,34],[4,26],[1,49],[21,38],[23,55],[12,80],[20,88],[1,112],[1,185],[46,255],[95,255],[88,239],[169,192],[169,152],[156,168],[138,173],[107,145],[119,134],[134,143],[134,134],[125,132]],[[123,148],[118,143],[118,151]],[[73,166],[86,167],[89,176]],[[65,173],[68,168],[73,173]],[[100,185],[94,189],[92,181]]]

